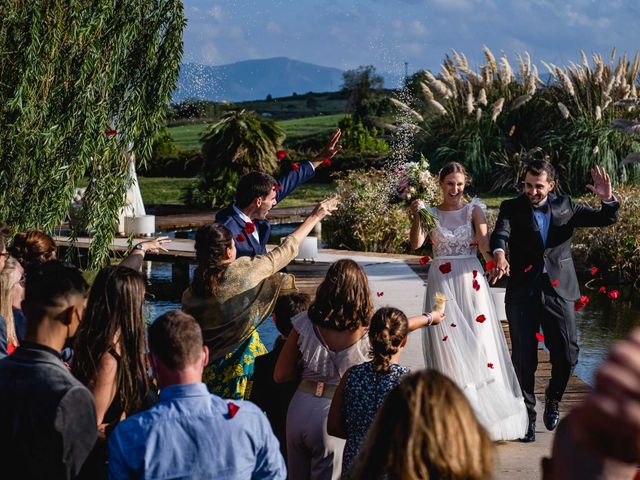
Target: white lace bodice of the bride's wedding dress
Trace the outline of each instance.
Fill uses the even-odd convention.
[[[444,211],[432,208],[438,219],[431,232],[434,257],[467,256],[476,254],[475,235],[471,216],[478,207],[486,214],[487,207],[474,198],[460,210]]]

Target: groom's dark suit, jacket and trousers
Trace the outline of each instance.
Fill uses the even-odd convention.
[[[526,195],[502,202],[491,234],[493,251],[508,247],[511,272],[505,303],[511,358],[531,419],[535,418],[536,332],[540,325],[551,355],[549,398],[562,399],[578,362],[574,301],[580,297],[580,289],[571,257],[573,230],[611,225],[619,207],[617,202],[602,203],[602,208],[595,210],[574,204],[566,195],[549,194],[547,201],[551,213],[546,245]]]

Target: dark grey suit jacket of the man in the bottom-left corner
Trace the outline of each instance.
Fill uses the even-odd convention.
[[[93,396],[58,352],[23,342],[0,360],[3,478],[76,478],[96,438]]]

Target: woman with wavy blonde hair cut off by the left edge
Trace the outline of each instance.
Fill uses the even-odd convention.
[[[4,270],[0,272],[0,320],[4,320],[6,338],[0,345],[0,351],[10,355],[26,335],[27,323],[23,316],[15,316],[24,299],[24,271],[22,266],[9,257]]]

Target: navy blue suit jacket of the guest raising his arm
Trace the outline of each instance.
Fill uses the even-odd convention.
[[[298,170],[291,170],[286,175],[276,179],[280,189],[276,191],[276,201],[282,201],[296,187],[315,174],[315,170],[311,162],[303,162]],[[216,223],[220,223],[231,231],[231,235],[236,243],[238,250],[237,257],[253,257],[255,255],[265,255],[267,253],[267,241],[271,234],[271,225],[268,220],[255,220],[253,223],[258,230],[260,241],[256,241],[255,237],[245,231],[246,223],[233,205],[223,208],[216,214]],[[242,234],[243,241],[238,241],[238,235]]]

